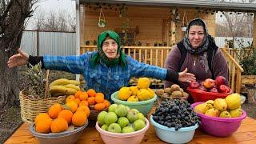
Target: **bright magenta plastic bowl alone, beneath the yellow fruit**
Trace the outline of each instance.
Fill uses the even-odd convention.
[[[191,106],[194,108],[203,102],[193,103]],[[216,118],[210,117],[205,114],[199,114],[202,122],[202,130],[207,134],[217,137],[227,137],[238,130],[242,120],[246,118],[246,111],[242,110],[242,116],[239,118]]]

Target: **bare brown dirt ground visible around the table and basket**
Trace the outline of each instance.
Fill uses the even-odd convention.
[[[27,78],[23,74],[24,70],[26,70],[26,67],[23,67],[18,72],[19,82],[21,83],[20,90],[22,90],[27,85]],[[50,71],[50,82],[58,78],[75,79],[75,75],[55,70]],[[250,118],[256,118],[256,106],[244,103],[242,105],[242,109],[246,110],[246,113]],[[7,138],[9,138],[11,134],[13,134],[14,131],[17,130],[18,127],[22,124],[22,119],[20,117],[20,107],[18,102],[15,106],[5,111],[5,113],[0,115],[0,144],[5,142]]]

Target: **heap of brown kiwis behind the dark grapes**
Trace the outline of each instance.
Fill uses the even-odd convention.
[[[155,94],[157,94],[161,100],[165,100],[166,98],[170,100],[174,98],[182,98],[186,100],[189,97],[189,94],[186,93],[177,84],[173,84],[170,87],[166,87],[165,89],[158,89],[155,91]]]

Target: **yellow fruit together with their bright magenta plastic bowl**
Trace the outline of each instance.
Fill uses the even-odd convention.
[[[225,99],[196,102],[191,105],[202,121],[202,130],[217,137],[227,137],[238,130],[246,118],[241,109],[240,94],[230,94]]]

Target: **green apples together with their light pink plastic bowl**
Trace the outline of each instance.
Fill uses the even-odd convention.
[[[138,110],[122,104],[112,104],[108,112],[98,114],[95,127],[105,143],[140,143],[149,125]]]

